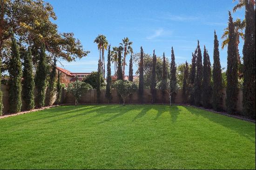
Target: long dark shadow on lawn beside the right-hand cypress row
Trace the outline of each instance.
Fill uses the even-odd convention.
[[[204,111],[190,106],[184,106],[184,108],[191,114],[207,118],[209,121],[214,122],[216,124],[220,124],[232,131],[237,132],[243,137],[248,138],[250,141],[255,142],[254,123],[246,122],[237,118],[230,118],[228,116],[220,115],[210,111]]]

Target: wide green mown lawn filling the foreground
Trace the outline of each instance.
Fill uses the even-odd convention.
[[[0,169],[255,169],[255,124],[192,107],[58,106],[0,119]]]

